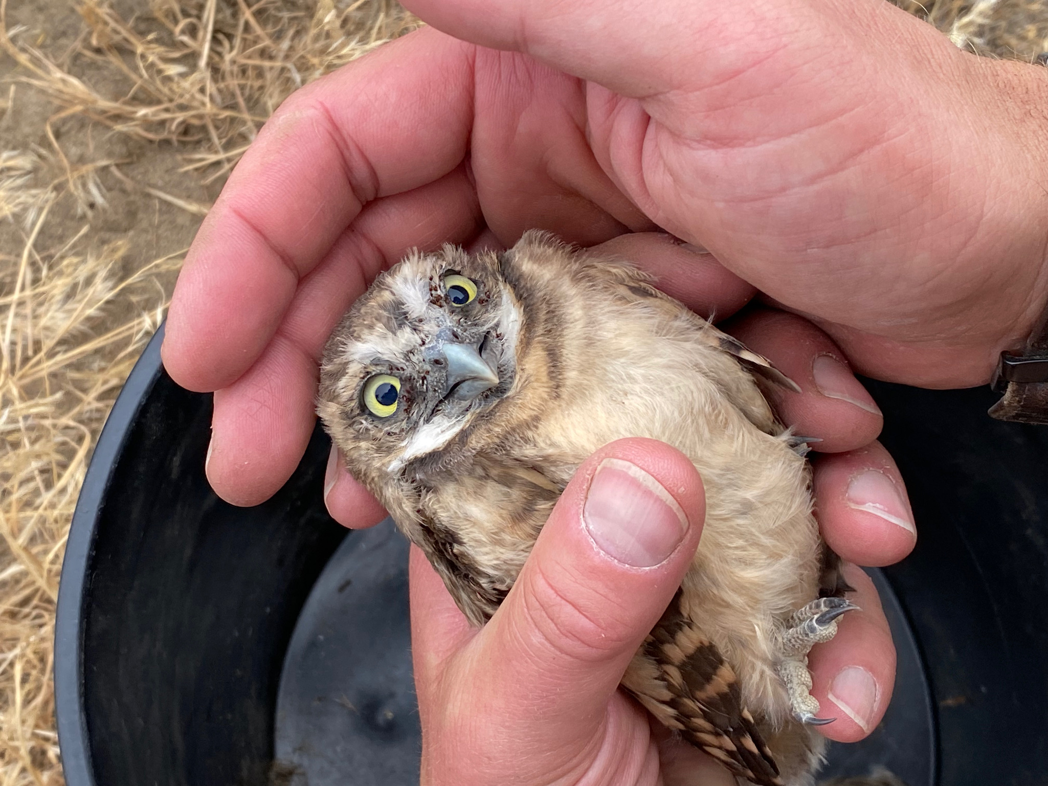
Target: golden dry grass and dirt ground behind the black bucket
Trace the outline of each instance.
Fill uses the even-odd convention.
[[[988,0],[896,1],[989,51],[965,26]],[[393,0],[0,0],[0,786],[62,783],[66,533],[201,216],[288,93],[414,24]],[[1023,29],[1005,56],[1045,48]]]

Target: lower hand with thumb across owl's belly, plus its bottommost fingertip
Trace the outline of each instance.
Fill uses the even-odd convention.
[[[625,473],[616,484],[594,480],[606,458],[647,473],[689,521]],[[629,504],[615,504],[621,494]],[[638,540],[659,544],[664,560],[637,568],[598,545],[602,520],[590,507],[631,519]],[[704,516],[701,480],[677,451],[652,440],[606,445],[568,484],[502,606],[472,628],[417,548],[411,558],[412,652],[422,725],[420,782],[427,786],[547,786],[587,783],[735,786],[735,778],[698,749],[672,740],[639,704],[617,690],[637,647],[655,625],[691,564]],[[663,528],[665,531],[663,531]],[[856,711],[840,704],[834,677],[848,669],[852,694],[863,674],[892,684],[894,653],[876,592],[865,573],[846,572],[861,611],[839,620],[836,637],[810,656],[812,695],[823,717],[837,720],[834,739],[857,739],[879,721],[888,692]],[[842,652],[850,658],[839,660]],[[889,687],[890,692],[890,687]],[[851,697],[850,697],[851,698]]]

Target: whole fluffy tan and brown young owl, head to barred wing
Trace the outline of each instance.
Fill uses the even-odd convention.
[[[475,299],[449,302],[449,277],[474,282]],[[453,384],[447,342],[490,369],[465,383],[484,391]],[[399,380],[397,421],[362,403],[381,374]],[[761,393],[765,376],[789,384],[628,262],[532,232],[502,255],[445,247],[385,274],[329,343],[319,411],[475,624],[590,454],[625,437],[685,454],[705,487],[702,540],[623,685],[737,774],[801,786],[824,743],[794,718],[784,636],[820,595],[824,547],[808,465]]]

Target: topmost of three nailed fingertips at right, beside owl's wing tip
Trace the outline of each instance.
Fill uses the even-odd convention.
[[[721,326],[801,387],[801,393],[772,386],[766,395],[780,418],[822,453],[852,451],[874,440],[883,415],[855,378],[844,353],[807,320],[770,309],[754,309]]]

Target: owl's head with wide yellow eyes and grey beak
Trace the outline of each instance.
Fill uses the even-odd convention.
[[[512,388],[521,308],[494,253],[446,245],[380,275],[325,349],[318,412],[373,492],[440,456]]]

